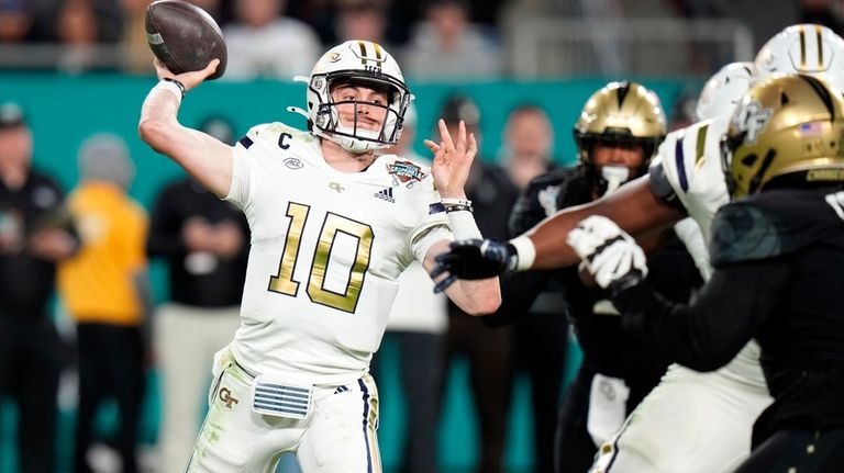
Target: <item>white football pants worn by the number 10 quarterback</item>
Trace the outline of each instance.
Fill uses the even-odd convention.
[[[229,350],[215,372],[187,472],[271,473],[285,452],[297,454],[302,473],[381,472],[378,390],[369,374],[344,386],[314,387],[311,413],[300,420],[253,412],[254,379]]]

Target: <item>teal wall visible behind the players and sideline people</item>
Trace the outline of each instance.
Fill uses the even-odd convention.
[[[419,132],[417,151],[427,153],[421,145],[424,137],[433,134],[436,113],[446,95],[459,92],[471,97],[481,110],[481,151],[484,159],[493,160],[500,146],[500,134],[508,111],[517,103],[541,104],[555,124],[555,156],[559,164],[571,164],[575,147],[571,125],[577,120],[586,99],[612,78],[584,78],[569,80],[488,82],[411,83],[417,97]],[[688,77],[674,80],[641,79],[664,101],[667,111],[688,90],[700,87],[702,78]],[[169,159],[155,154],[137,137],[137,119],[141,103],[152,77],[124,77],[113,74],[60,76],[47,72],[3,72],[0,91],[3,99],[14,99],[25,110],[35,140],[34,166],[55,176],[65,189],[78,181],[76,151],[79,144],[92,132],[111,132],[126,137],[132,158],[137,166],[137,177],[131,194],[145,206],[152,204],[157,190],[165,182],[181,176],[182,171]],[[264,122],[284,121],[304,127],[304,120],[288,113],[285,108],[303,102],[303,85],[260,80],[248,83],[209,82],[191,91],[180,110],[180,121],[197,124],[214,114],[230,116],[240,134],[246,127]],[[166,282],[163,268],[153,267],[155,295],[166,300]],[[67,324],[62,307],[56,306],[59,324]],[[399,446],[403,429],[403,398],[398,380],[397,347],[382,347],[388,356],[388,375],[378,380],[381,398],[381,426],[379,441],[384,464],[389,471],[399,463]],[[569,376],[579,362],[576,345],[571,345]],[[451,386],[446,393],[440,425],[440,463],[445,471],[468,471],[476,459],[476,431],[473,421],[471,396],[468,387],[467,367],[458,360],[451,369]],[[158,424],[156,374],[153,369],[148,386],[147,405],[144,408],[142,441],[152,444]],[[529,394],[525,380],[518,380],[511,407],[511,421],[507,449],[507,463],[511,471],[528,471],[531,459],[531,428]],[[63,406],[59,429],[59,471],[66,471],[73,444],[73,409]],[[109,430],[114,423],[114,409],[106,408],[100,415],[100,428]],[[2,413],[3,432],[0,439],[0,473],[12,473],[14,412],[9,405]]]

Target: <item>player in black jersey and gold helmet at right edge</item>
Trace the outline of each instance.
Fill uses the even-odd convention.
[[[824,81],[775,76],[751,89],[722,139],[734,202],[712,224],[715,270],[689,305],[643,281],[642,249],[607,217],[568,234],[625,328],[679,363],[714,370],[758,340],[775,401],[737,473],[844,471],[842,136],[844,100]]]

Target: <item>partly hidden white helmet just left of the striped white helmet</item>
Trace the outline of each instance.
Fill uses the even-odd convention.
[[[730,63],[709,78],[695,108],[697,121],[733,113],[735,104],[751,88],[753,63]]]

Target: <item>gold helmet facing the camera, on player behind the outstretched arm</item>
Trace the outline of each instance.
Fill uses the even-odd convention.
[[[584,105],[575,124],[578,162],[587,178],[603,194],[607,180],[592,160],[597,142],[641,145],[644,161],[632,179],[647,170],[656,147],[665,138],[666,120],[659,98],[636,82],[610,82],[595,92]]]

